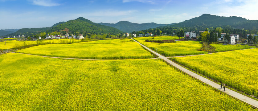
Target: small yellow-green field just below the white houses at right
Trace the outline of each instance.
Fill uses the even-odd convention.
[[[215,47],[216,52],[223,52],[223,51],[233,51],[233,50],[240,50],[240,49],[248,49],[248,48],[255,48],[255,46],[248,46],[248,45],[223,45],[223,44],[210,44],[212,47]]]

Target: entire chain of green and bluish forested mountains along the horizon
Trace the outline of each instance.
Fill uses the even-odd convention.
[[[149,28],[161,28],[161,27],[226,27],[237,29],[258,29],[258,20],[247,20],[242,17],[222,17],[211,14],[203,14],[199,17],[185,20],[180,23],[171,24],[157,24],[157,23],[131,23],[128,21],[120,21],[118,23],[93,23],[92,21],[79,17],[75,20],[69,20],[67,22],[59,22],[51,27],[45,28],[24,28],[24,29],[14,29],[17,32],[10,30],[0,30],[0,35],[22,35],[28,33],[39,33],[39,32],[52,32],[52,31],[69,31],[72,34],[79,32],[81,34],[117,34],[117,33],[130,33],[133,31],[141,31]],[[11,34],[10,34],[11,33]]]

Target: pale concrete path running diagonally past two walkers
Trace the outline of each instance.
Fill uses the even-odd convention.
[[[137,42],[137,41],[134,40],[134,39],[133,39],[133,41]],[[139,42],[137,42],[137,43],[139,43]],[[192,77],[194,77],[194,78],[196,78],[196,79],[202,81],[203,83],[206,83],[206,84],[210,85],[210,86],[213,87],[213,88],[218,89],[218,90],[221,91],[221,92],[224,92],[224,93],[226,93],[226,94],[228,94],[228,95],[230,95],[230,96],[232,96],[232,97],[235,97],[235,98],[237,98],[237,99],[239,99],[239,100],[241,100],[241,101],[243,101],[243,102],[245,102],[245,103],[247,103],[247,104],[249,104],[249,105],[252,105],[252,106],[258,108],[258,101],[254,100],[254,99],[252,99],[252,98],[249,98],[249,97],[247,97],[247,96],[244,96],[244,95],[242,95],[242,94],[240,94],[240,93],[238,93],[238,92],[235,92],[235,91],[233,91],[233,90],[230,90],[230,89],[228,89],[228,88],[226,88],[226,89],[225,89],[226,91],[224,91],[223,88],[220,88],[220,85],[219,85],[219,84],[217,84],[217,83],[215,83],[215,82],[213,82],[213,81],[211,81],[211,80],[208,80],[207,78],[205,78],[205,77],[203,77],[203,76],[200,76],[200,75],[198,75],[198,74],[196,74],[196,73],[194,73],[194,72],[192,72],[192,71],[190,71],[190,70],[188,70],[188,69],[186,69],[186,68],[184,68],[184,67],[182,67],[182,66],[180,66],[180,65],[178,65],[178,64],[176,64],[176,63],[174,63],[173,61],[171,61],[171,60],[168,59],[168,58],[170,58],[170,57],[164,57],[164,56],[158,54],[157,52],[155,52],[155,51],[149,49],[148,47],[142,45],[141,43],[139,43],[139,44],[140,44],[142,47],[144,47],[145,49],[147,49],[147,50],[151,51],[152,53],[156,54],[156,55],[158,56],[158,59],[163,59],[163,60],[165,60],[167,63],[169,63],[170,65],[172,65],[172,66],[174,66],[174,67],[176,67],[176,68],[178,68],[178,69],[181,70],[182,72],[185,72],[186,74],[188,74],[188,75],[190,75],[190,76],[192,76]],[[192,56],[194,56],[194,55],[192,55]]]

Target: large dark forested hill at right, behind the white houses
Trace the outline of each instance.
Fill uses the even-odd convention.
[[[231,26],[233,28],[238,29],[252,29],[253,27],[258,28],[258,21],[257,20],[247,20],[242,17],[221,17],[217,15],[211,14],[203,14],[199,17],[186,20],[181,23],[177,23],[174,25],[170,25],[169,27],[195,27],[195,26],[202,26],[202,27],[225,27]]]

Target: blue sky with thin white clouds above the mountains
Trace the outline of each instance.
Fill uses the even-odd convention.
[[[179,23],[202,14],[258,19],[258,0],[0,0],[0,29],[51,27],[84,17],[95,23]]]

